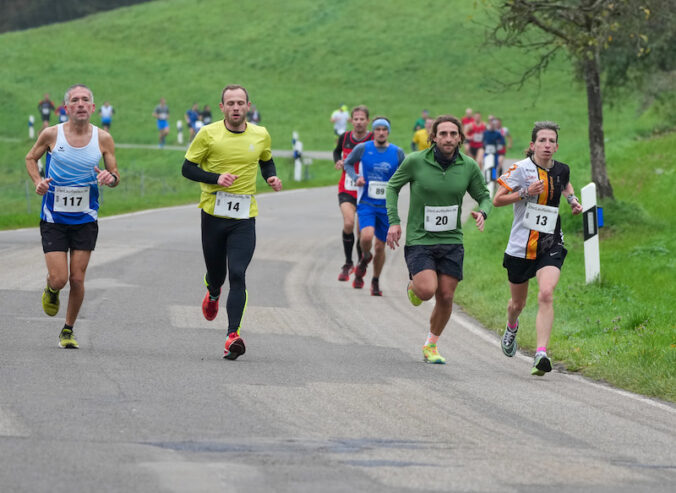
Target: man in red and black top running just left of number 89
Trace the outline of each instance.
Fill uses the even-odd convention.
[[[357,185],[345,173],[343,160],[352,152],[357,144],[373,140],[373,132],[368,130],[369,110],[366,106],[355,106],[351,112],[352,130],[338,137],[336,148],[333,150],[333,161],[336,169],[342,171],[338,182],[338,205],[343,214],[343,250],[345,251],[345,264],[340,268],[339,281],[348,281],[350,274],[354,272],[352,261],[352,249],[355,244],[354,227],[357,212]],[[359,163],[355,165],[355,171],[359,173]],[[357,235],[359,235],[357,227]],[[361,258],[359,238],[357,238],[357,261]]]

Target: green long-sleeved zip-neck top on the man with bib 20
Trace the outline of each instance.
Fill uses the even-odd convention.
[[[387,217],[390,224],[400,224],[399,190],[411,184],[411,200],[406,226],[406,245],[462,244],[462,199],[465,192],[488,214],[492,208],[479,165],[469,156],[458,153],[446,171],[434,159],[434,146],[409,154],[387,185]],[[425,207],[458,206],[457,228],[450,231],[426,231]]]

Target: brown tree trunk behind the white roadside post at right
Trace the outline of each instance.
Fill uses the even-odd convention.
[[[587,112],[589,114],[589,154],[591,158],[592,181],[596,184],[599,198],[614,199],[606,172],[606,151],[603,142],[603,98],[599,56],[584,61],[584,79],[587,86]]]

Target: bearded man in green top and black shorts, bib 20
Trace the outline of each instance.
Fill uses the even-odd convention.
[[[437,117],[430,139],[432,147],[410,154],[390,178],[386,195],[390,222],[387,244],[392,249],[399,246],[399,190],[410,183],[404,247],[411,277],[408,298],[414,306],[432,296],[436,298],[423,357],[428,363],[444,364],[437,341],[451,318],[455,288],[462,280],[462,199],[468,192],[479,203],[479,210],[471,213],[479,231],[484,229],[491,199],[479,166],[459,150],[465,134],[457,118]]]

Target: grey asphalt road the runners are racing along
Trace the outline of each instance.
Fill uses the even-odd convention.
[[[0,491],[676,489],[674,406],[532,377],[460,308],[427,365],[401,249],[374,298],[336,280],[334,187],[259,205],[237,361],[201,315],[196,207],[101,221],[78,351],[42,312],[37,229],[0,232]]]

